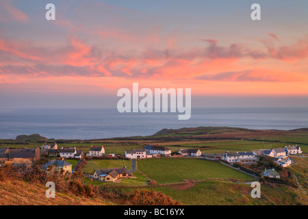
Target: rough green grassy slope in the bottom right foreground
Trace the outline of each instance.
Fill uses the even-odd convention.
[[[261,198],[251,197],[251,185],[230,181],[204,181],[192,188],[179,190],[174,186],[151,188],[171,196],[184,205],[307,205],[304,194],[285,186],[270,188],[261,185]]]

